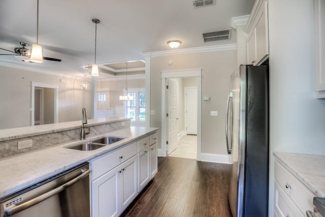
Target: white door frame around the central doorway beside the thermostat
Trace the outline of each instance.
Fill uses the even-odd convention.
[[[198,82],[198,137],[197,137],[197,160],[201,161],[201,128],[202,128],[202,69],[190,69],[190,70],[172,70],[161,71],[161,152],[159,156],[167,156],[167,117],[166,117],[166,81],[169,78],[197,78]]]

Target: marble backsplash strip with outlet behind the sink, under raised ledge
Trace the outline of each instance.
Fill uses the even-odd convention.
[[[121,122],[125,123],[124,127],[121,127]],[[104,123],[90,127],[90,134],[86,135],[86,139],[103,133],[109,133],[110,131],[129,128],[131,126],[130,120],[122,120],[111,123]],[[85,127],[87,132],[87,127]],[[72,142],[75,140],[80,140],[81,127],[78,129],[59,131],[54,133],[47,133],[37,136],[23,137],[19,139],[12,139],[0,142],[0,159],[14,156],[16,154],[25,153],[32,150],[37,150],[40,148],[49,147],[52,145],[61,144],[64,142]],[[32,139],[32,147],[18,150],[17,144],[19,141]]]

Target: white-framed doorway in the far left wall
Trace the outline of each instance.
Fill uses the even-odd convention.
[[[31,82],[31,126],[58,122],[58,85]]]

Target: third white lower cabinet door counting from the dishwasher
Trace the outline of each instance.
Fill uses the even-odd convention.
[[[150,180],[149,148],[138,153],[138,192],[141,192]]]

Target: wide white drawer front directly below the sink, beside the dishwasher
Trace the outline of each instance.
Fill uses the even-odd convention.
[[[121,149],[105,154],[92,162],[90,162],[91,168],[91,180],[94,180],[104,173],[110,171],[117,165],[123,163],[127,159],[137,154],[137,143],[134,142]]]

